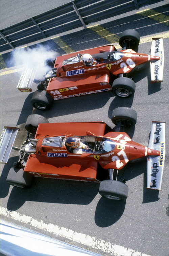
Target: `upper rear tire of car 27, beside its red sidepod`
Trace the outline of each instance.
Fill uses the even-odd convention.
[[[25,129],[30,133],[34,133],[37,131],[39,123],[48,123],[48,122],[49,122],[48,119],[44,116],[41,116],[38,114],[31,114],[28,116],[26,120]]]

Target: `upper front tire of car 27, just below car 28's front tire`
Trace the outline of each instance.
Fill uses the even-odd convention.
[[[137,122],[137,112],[127,107],[114,109],[112,112],[112,122],[117,125],[120,121],[125,121],[126,126],[134,126]]]

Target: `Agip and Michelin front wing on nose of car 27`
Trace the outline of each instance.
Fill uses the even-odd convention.
[[[160,190],[165,160],[165,122],[152,122],[148,147],[160,151],[160,156],[147,158],[147,188]]]

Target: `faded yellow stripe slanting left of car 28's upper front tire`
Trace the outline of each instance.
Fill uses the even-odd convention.
[[[108,31],[107,29],[103,28],[100,25],[94,25],[88,28],[96,32],[100,37],[104,38],[111,44],[119,42],[119,37],[116,34],[111,33],[110,31]]]

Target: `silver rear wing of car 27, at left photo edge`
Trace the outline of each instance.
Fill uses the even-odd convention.
[[[4,126],[0,137],[0,162],[7,164],[15,138],[20,129],[18,127]]]

